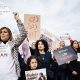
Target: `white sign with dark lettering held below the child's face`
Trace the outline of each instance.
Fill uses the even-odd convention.
[[[46,69],[25,71],[26,80],[47,80]]]

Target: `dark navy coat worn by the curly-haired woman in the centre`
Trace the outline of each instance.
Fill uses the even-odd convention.
[[[51,53],[46,52],[45,54],[40,54],[37,50],[34,53],[38,57],[40,62],[40,68],[46,68],[48,80],[54,80],[54,70],[57,64],[53,61]]]

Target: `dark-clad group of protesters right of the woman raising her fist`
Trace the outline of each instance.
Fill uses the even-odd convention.
[[[70,46],[75,51],[76,55],[80,53],[80,47],[77,40],[72,40]],[[60,50],[64,47],[65,42],[60,41],[60,47],[56,50]],[[80,80],[80,62],[77,61],[77,59],[58,65],[55,56],[52,57],[48,49],[46,40],[37,40],[33,46],[30,47],[31,56],[25,65],[24,72],[26,70],[46,68],[47,80]]]

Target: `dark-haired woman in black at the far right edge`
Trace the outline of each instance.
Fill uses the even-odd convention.
[[[72,48],[74,49],[76,55],[80,53],[79,43],[77,40],[72,41]],[[71,80],[80,80],[80,61],[74,60],[70,62],[70,70],[71,70]]]

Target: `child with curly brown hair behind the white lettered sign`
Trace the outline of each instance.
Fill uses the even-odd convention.
[[[27,60],[27,64],[23,66],[20,80],[26,80],[25,71],[39,69],[39,60],[36,56],[30,56]]]

